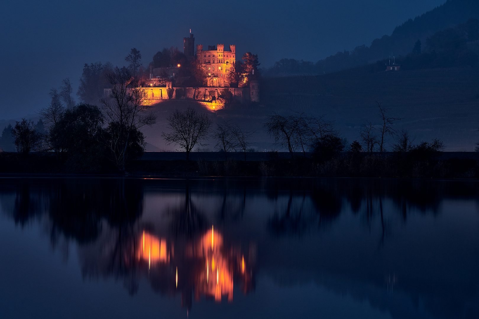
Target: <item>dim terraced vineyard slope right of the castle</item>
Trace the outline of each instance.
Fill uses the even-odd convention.
[[[479,140],[477,68],[424,69],[371,73],[366,68],[317,77],[267,78],[262,86],[266,109],[327,114],[350,141],[361,125],[378,123],[376,102],[390,108],[395,125],[416,142],[441,138],[446,151],[472,151]]]

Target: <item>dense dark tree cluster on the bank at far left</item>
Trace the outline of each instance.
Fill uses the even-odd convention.
[[[115,67],[104,77],[112,89],[109,96],[100,99],[102,108],[84,102],[74,105],[71,96],[52,89],[51,102],[39,110],[36,125],[22,119],[13,127],[7,126],[1,141],[13,142],[17,154],[2,153],[4,169],[38,167],[35,162],[46,165],[54,161],[65,172],[125,172],[128,161],[144,152],[146,143],[140,128],[153,125],[156,116],[145,103],[141,79],[129,69]],[[71,93],[71,87],[67,92]],[[29,157],[31,152],[43,155],[44,160]]]

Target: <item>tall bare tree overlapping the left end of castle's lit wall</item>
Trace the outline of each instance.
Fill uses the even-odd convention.
[[[132,151],[138,147],[143,149],[144,136],[139,129],[152,126],[156,116],[150,111],[152,106],[145,103],[144,83],[132,77],[127,69],[116,67],[106,79],[112,88],[108,97],[100,99],[108,122],[104,143],[111,151],[116,167],[125,171],[126,162],[141,153]]]

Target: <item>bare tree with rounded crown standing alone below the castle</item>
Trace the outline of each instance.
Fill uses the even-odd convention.
[[[168,145],[178,144],[186,152],[186,159],[190,159],[190,153],[194,145],[205,146],[202,141],[208,138],[212,121],[205,113],[198,114],[188,107],[185,111],[174,110],[166,120],[170,133],[162,132],[161,136]]]

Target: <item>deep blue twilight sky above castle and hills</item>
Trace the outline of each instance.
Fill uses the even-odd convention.
[[[371,44],[445,0],[5,1],[0,11],[0,120],[34,114],[85,63],[125,65],[136,47],[144,66],[163,47],[236,44],[262,66],[281,58],[318,61]]]

